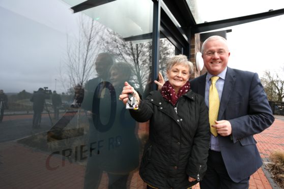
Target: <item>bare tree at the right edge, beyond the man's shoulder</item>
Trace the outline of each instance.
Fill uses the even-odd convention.
[[[284,68],[282,68],[282,70],[284,71]],[[284,98],[284,80],[280,77],[279,73],[276,71],[271,73],[269,70],[266,70],[261,81],[268,100],[282,102],[282,99]]]

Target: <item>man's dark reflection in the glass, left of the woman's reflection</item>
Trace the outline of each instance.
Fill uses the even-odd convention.
[[[108,82],[110,81],[110,74],[109,69],[114,64],[115,59],[110,53],[102,52],[99,53],[96,60],[95,60],[95,70],[97,72],[97,77],[90,79],[84,88],[81,86],[76,86],[75,89],[75,97],[78,100],[78,102],[81,102],[81,108],[84,109],[86,112],[86,115],[89,120],[90,124],[90,130],[89,130],[89,145],[90,148],[92,148],[93,143],[96,143],[96,141],[99,141],[100,139],[106,140],[103,138],[105,135],[107,135],[109,132],[103,131],[99,132],[98,130],[104,130],[107,127],[103,123],[101,123],[100,119],[104,119],[104,114],[101,113],[101,111],[97,111],[96,108],[100,107],[102,109],[107,109],[110,106],[108,103],[110,101],[110,98],[107,99],[107,102],[105,102],[104,96],[105,93],[107,93],[109,90],[107,89]],[[98,104],[100,102],[100,104]],[[104,102],[104,103],[103,103]],[[97,109],[98,110],[98,109]],[[106,112],[110,112],[109,109],[106,110]],[[109,118],[109,116],[108,116]],[[111,119],[111,118],[110,118]],[[101,123],[101,124],[100,124]],[[88,156],[88,162],[86,166],[86,172],[84,176],[84,188],[98,188],[103,170],[101,169],[104,164],[100,165],[102,163],[103,152],[97,152],[97,155],[91,155]],[[103,156],[103,157],[102,157]],[[110,158],[110,157],[109,157]],[[108,164],[110,166],[110,164]],[[109,182],[111,180],[120,180],[120,177],[110,177],[109,176]],[[127,180],[127,179],[126,179]],[[112,183],[109,183],[109,185],[112,185]],[[109,186],[109,188],[112,188],[113,186]],[[117,187],[121,188],[121,187]]]

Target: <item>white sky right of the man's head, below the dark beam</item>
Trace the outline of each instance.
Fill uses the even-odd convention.
[[[228,66],[257,72],[279,71],[284,67],[284,15],[229,27],[231,51]],[[283,74],[282,74],[283,75]]]

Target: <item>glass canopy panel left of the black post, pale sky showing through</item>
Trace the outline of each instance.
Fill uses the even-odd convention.
[[[71,6],[84,1],[63,0]],[[148,34],[153,27],[153,3],[143,0],[119,0],[82,11],[123,38]]]

